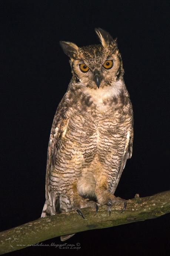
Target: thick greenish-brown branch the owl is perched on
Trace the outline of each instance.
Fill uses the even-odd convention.
[[[154,219],[170,213],[170,191],[140,198],[138,194],[127,201],[126,210],[121,212],[118,205],[111,210],[111,216],[106,206],[99,207],[94,216],[92,209],[81,209],[85,220],[74,211],[57,214],[46,218],[39,218],[18,227],[0,233],[0,254],[23,249],[24,247],[44,240],[78,233],[90,229],[102,229],[135,221]]]

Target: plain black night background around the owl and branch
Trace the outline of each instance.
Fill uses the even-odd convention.
[[[71,78],[59,40],[99,43],[95,27],[118,37],[134,110],[133,157],[116,196],[169,189],[168,1],[1,1],[0,229],[40,217],[46,155],[57,105]],[[73,236],[81,249],[29,247],[11,255],[168,255],[169,216]],[[59,237],[44,243],[61,244]],[[67,242],[67,241],[66,241]]]

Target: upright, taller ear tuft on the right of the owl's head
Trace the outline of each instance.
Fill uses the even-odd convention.
[[[114,40],[106,30],[98,28],[95,32],[104,48],[117,47],[117,38]]]

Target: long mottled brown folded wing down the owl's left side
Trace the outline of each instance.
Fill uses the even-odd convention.
[[[47,215],[56,214],[58,196],[56,194],[56,191],[51,190],[49,186],[49,175],[55,164],[57,141],[59,140],[63,132],[66,130],[67,125],[69,123],[69,118],[67,117],[69,116],[69,112],[70,112],[70,108],[69,109],[67,108],[67,97],[65,94],[57,108],[56,114],[53,119],[51,132],[50,132],[49,147],[47,152],[47,168],[46,168],[46,202],[44,204],[41,217],[46,217]]]

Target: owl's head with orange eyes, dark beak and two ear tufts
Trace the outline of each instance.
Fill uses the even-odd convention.
[[[70,57],[73,78],[93,89],[110,86],[121,79],[124,72],[116,39],[103,29],[95,31],[101,45],[78,47],[74,43],[60,41],[64,53]]]

